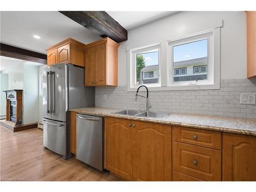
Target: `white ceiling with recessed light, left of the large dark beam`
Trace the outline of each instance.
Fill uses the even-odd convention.
[[[101,38],[58,11],[1,11],[0,23],[2,43],[39,53],[69,37],[84,44]]]

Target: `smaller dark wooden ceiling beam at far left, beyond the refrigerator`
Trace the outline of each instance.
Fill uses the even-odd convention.
[[[0,43],[0,55],[47,64],[47,55]]]

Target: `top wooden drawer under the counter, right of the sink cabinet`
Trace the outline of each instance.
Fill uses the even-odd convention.
[[[174,126],[174,141],[221,150],[221,132]]]

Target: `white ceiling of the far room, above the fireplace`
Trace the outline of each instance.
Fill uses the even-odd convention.
[[[0,56],[0,73],[8,74],[10,70],[14,73],[19,72],[21,66],[23,66],[24,64],[31,65],[31,66],[42,66],[42,65],[44,65],[42,63],[37,63],[37,62],[15,59],[15,58],[11,58],[11,57]]]

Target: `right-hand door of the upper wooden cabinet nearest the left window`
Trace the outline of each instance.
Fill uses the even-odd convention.
[[[95,82],[96,86],[106,84],[106,42],[95,46]]]

